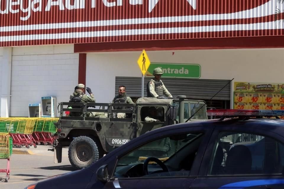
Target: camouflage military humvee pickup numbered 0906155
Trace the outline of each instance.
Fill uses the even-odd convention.
[[[119,104],[120,110],[113,108],[118,104],[108,103],[61,102],[59,105],[54,163],[61,162],[62,147],[69,146],[68,157],[76,169],[88,167],[104,154],[153,129],[183,123],[193,114],[191,121],[207,119],[205,102],[189,100],[185,96],[172,99],[142,97],[135,104]],[[72,105],[81,108],[67,108]],[[157,117],[161,122],[146,123],[144,119],[153,106],[158,110]],[[64,116],[65,111],[80,112],[82,116]],[[107,116],[89,117],[90,112],[104,112]],[[126,118],[116,118],[115,113],[126,113]]]

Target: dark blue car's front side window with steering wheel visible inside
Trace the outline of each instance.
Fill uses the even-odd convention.
[[[114,178],[188,176],[202,138],[184,133],[144,144],[118,159]]]

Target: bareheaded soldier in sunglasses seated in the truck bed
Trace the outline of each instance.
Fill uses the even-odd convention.
[[[128,104],[134,104],[134,102],[131,100],[131,98],[126,94],[126,87],[124,85],[120,85],[118,87],[118,95],[114,97],[112,100],[112,103],[128,103]],[[129,109],[128,107],[122,107],[122,106],[115,106],[114,109],[116,110],[122,110],[123,108]],[[125,113],[117,113],[117,118],[125,118]]]

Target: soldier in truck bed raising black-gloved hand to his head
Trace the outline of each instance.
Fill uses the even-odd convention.
[[[77,89],[75,88],[75,91],[73,94],[70,95],[70,102],[96,102],[96,99],[89,87],[86,88],[87,92],[90,94],[88,96],[84,93],[85,85],[84,84],[78,84]],[[80,108],[79,107],[72,107],[72,108]],[[80,116],[80,112],[70,112],[70,116]]]

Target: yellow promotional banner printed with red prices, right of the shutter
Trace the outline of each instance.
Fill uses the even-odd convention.
[[[284,110],[284,83],[235,82],[234,109]]]

